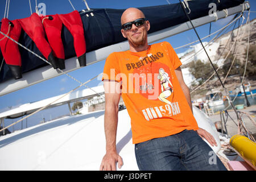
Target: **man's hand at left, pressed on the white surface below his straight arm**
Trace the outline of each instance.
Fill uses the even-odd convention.
[[[104,158],[102,159],[100,171],[115,171],[115,164],[118,162],[118,168],[123,166],[123,160],[117,152],[106,152]]]

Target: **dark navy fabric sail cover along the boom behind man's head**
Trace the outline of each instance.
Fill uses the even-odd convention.
[[[196,0],[188,1],[189,9],[191,13],[188,15],[191,19],[200,18],[202,16],[209,15],[210,3],[215,3],[217,11],[228,9],[230,7],[238,6],[242,4],[244,0]],[[140,10],[144,13],[147,20],[150,21],[151,27],[148,34],[163,30],[164,28],[172,27],[180,23],[188,21],[187,16],[184,14],[183,8],[180,3],[171,5],[140,7]],[[189,11],[188,9],[186,9]],[[123,13],[123,9],[91,9],[90,11],[80,11],[84,27],[84,35],[86,42],[86,52],[90,52],[102,47],[110,46],[115,43],[123,42],[126,39],[121,34],[120,18]],[[94,16],[91,16],[93,13]],[[88,14],[89,16],[87,16]],[[0,27],[1,27],[0,23]],[[63,25],[61,31],[61,39],[63,41],[65,59],[76,56],[75,49],[73,47],[73,36],[68,31],[67,27]],[[19,38],[19,43],[27,47],[31,51],[35,52],[39,56],[42,53],[36,47],[32,39],[22,30]],[[34,69],[44,67],[48,65],[43,60],[39,59],[26,49],[19,46],[19,52],[22,57],[22,73],[32,71]],[[3,60],[2,52],[0,52],[0,65]],[[9,67],[4,62],[0,72],[0,82],[8,79],[13,79],[12,73]]]

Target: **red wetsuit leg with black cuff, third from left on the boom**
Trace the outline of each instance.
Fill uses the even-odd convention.
[[[63,26],[58,15],[41,16],[44,31],[48,39],[48,43],[52,48],[53,55],[56,57],[59,68],[65,69],[65,53],[61,39],[61,28]]]

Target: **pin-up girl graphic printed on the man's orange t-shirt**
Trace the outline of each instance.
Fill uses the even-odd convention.
[[[168,73],[166,73],[163,68],[159,69],[158,79],[160,81],[162,91],[162,93],[159,94],[158,98],[160,101],[166,102],[166,104],[171,105],[171,102],[168,101],[166,98],[171,96],[173,92],[173,86],[170,81],[170,77],[168,76]]]

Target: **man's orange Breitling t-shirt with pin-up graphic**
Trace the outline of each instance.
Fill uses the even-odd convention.
[[[175,75],[180,65],[168,42],[141,52],[113,52],[106,59],[102,80],[122,81],[133,143],[198,129]]]

